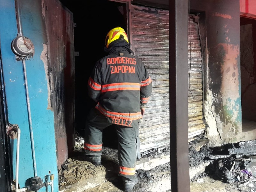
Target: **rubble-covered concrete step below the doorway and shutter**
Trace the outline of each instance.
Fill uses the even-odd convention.
[[[102,156],[102,165],[83,161],[83,155],[69,158],[66,170],[60,173],[60,192],[122,192],[122,181],[118,176],[116,151],[111,156]],[[109,151],[108,153],[109,154]],[[209,162],[189,169],[190,179],[204,172]],[[139,178],[134,192],[167,192],[171,190],[170,153],[140,158],[136,162]]]

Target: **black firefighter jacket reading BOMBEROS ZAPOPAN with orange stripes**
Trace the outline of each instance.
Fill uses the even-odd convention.
[[[148,71],[130,53],[133,52],[128,45],[113,46],[108,56],[97,61],[88,80],[89,97],[97,102],[95,108],[113,121],[141,119],[140,108],[145,107],[151,95]]]

